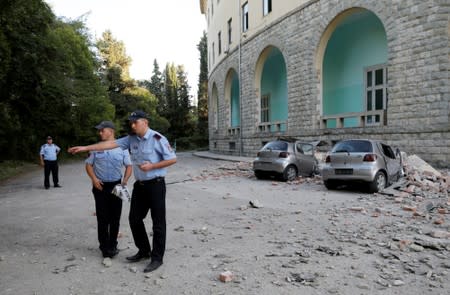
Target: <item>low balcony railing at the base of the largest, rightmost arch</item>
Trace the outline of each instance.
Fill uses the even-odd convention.
[[[320,118],[320,128],[345,128],[346,119],[356,119],[356,126],[348,127],[367,127],[386,125],[386,110],[376,110],[360,113],[344,113],[335,115],[326,115]],[[328,124],[335,122],[335,127],[328,127]]]

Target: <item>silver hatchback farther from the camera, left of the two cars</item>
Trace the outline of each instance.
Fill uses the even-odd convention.
[[[269,175],[281,176],[285,181],[298,175],[310,176],[317,171],[314,144],[295,139],[278,139],[265,144],[253,161],[253,171],[258,179]]]

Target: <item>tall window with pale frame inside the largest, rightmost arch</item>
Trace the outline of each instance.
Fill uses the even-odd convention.
[[[366,110],[379,111],[387,108],[387,68],[384,65],[369,67],[365,70]],[[379,114],[368,115],[366,124],[380,125]]]

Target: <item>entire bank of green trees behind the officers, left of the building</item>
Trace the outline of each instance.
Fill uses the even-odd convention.
[[[110,31],[94,44],[83,19],[58,19],[43,0],[1,0],[0,161],[36,159],[46,135],[63,152],[96,142],[93,127],[103,120],[126,134],[136,109],[172,143],[179,139],[180,148],[197,144],[201,116],[183,66],[167,64],[162,73],[155,59],[151,80],[138,84],[130,65]]]

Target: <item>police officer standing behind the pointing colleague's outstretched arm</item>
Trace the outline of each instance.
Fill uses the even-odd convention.
[[[103,121],[95,128],[102,141],[115,139],[113,122]],[[117,235],[122,213],[122,199],[112,194],[112,190],[118,184],[127,185],[132,173],[130,154],[128,150],[121,148],[92,151],[85,162],[86,172],[92,180],[99,248],[103,257],[113,258],[119,253]],[[125,166],[125,173],[122,180],[123,166]]]

